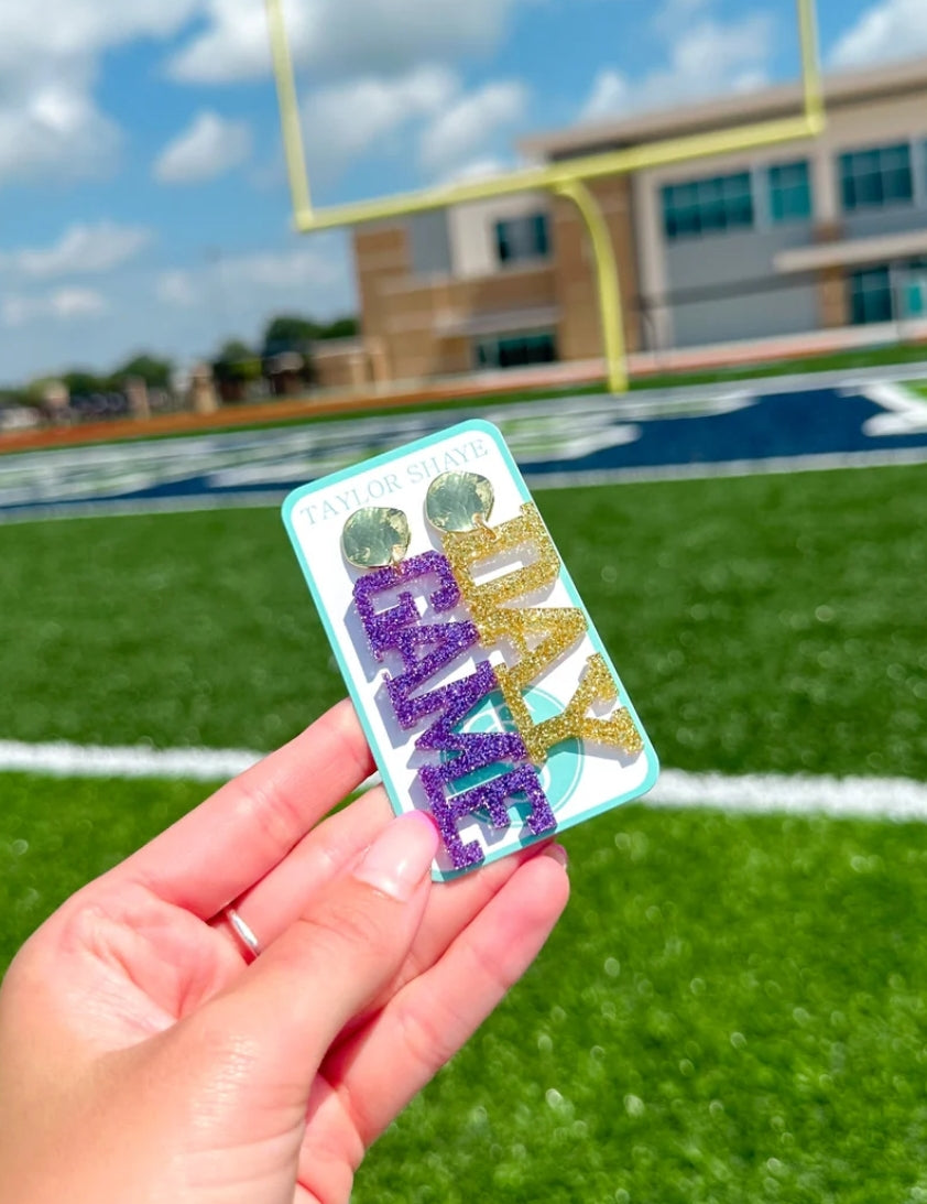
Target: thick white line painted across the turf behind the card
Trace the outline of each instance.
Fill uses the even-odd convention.
[[[105,748],[0,740],[0,772],[57,778],[161,778],[223,781],[265,754],[246,749]],[[374,785],[371,778],[366,786]],[[740,815],[826,815],[927,822],[927,783],[908,778],[685,773],[665,769],[648,807],[712,808]]]

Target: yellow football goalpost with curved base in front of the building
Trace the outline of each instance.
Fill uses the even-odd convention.
[[[265,0],[281,126],[293,197],[294,223],[301,234],[411,217],[468,201],[492,200],[526,191],[549,191],[572,200],[586,226],[598,284],[602,341],[610,393],[627,391],[624,314],[615,250],[604,217],[586,187],[609,176],[626,176],[651,167],[701,158],[797,142],[817,137],[826,125],[823,82],[817,45],[815,0],[796,0],[802,59],[802,111],[795,117],[732,126],[708,134],[684,135],[624,150],[583,155],[561,163],[518,169],[486,179],[443,184],[414,193],[355,201],[317,209],[312,203],[293,54],[283,12],[284,0]]]

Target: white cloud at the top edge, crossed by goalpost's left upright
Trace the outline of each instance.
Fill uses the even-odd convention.
[[[287,0],[299,63],[318,76],[402,73],[436,57],[485,51],[531,0]],[[194,83],[256,78],[270,69],[264,6],[206,0],[208,23],[171,60]]]

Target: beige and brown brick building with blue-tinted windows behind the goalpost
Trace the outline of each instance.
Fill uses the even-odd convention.
[[[555,161],[795,114],[797,87],[532,138]],[[592,187],[631,352],[815,331],[927,335],[927,60],[827,84],[823,137]],[[602,341],[584,228],[547,194],[361,226],[352,379],[590,360]],[[332,365],[335,371],[335,365]]]

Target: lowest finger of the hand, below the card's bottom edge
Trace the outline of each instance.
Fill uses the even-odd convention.
[[[521,978],[567,903],[562,854],[554,846],[522,864],[436,966],[330,1056],[323,1073],[338,1086],[323,1108],[332,1125],[347,1112],[364,1145],[374,1141]],[[314,1120],[311,1133],[325,1140],[329,1117]]]

